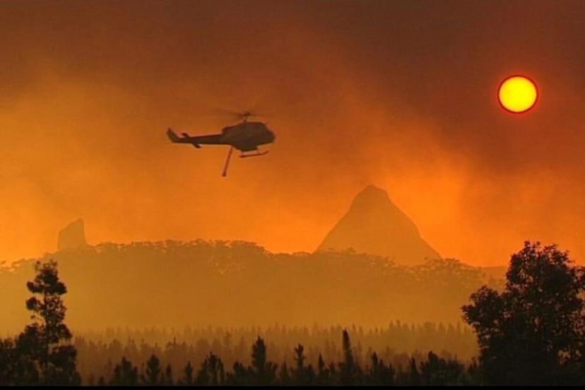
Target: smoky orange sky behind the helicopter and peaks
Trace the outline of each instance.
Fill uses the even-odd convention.
[[[88,241],[311,252],[367,184],[443,256],[585,258],[581,1],[1,1],[0,261]],[[513,73],[541,91],[497,104]],[[264,158],[172,145],[270,114]]]

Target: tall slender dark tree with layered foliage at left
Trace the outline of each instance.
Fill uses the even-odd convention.
[[[61,295],[67,293],[67,288],[59,280],[57,262],[37,261],[34,268],[35,279],[26,284],[33,294],[26,301],[33,323],[25,326],[16,341],[19,376],[23,382],[34,382],[38,377],[42,384],[80,384],[77,350],[71,345],[71,332],[63,322],[66,307]]]

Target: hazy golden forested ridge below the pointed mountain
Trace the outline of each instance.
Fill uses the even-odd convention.
[[[76,291],[66,297],[74,329],[275,322],[374,328],[395,319],[455,324],[461,321],[459,307],[489,281],[480,268],[454,259],[399,266],[350,251],[273,254],[249,242],[100,244],[0,269],[8,329],[27,320],[18,302],[25,299],[22,285],[31,264],[48,259],[59,263]],[[85,310],[86,302],[95,310]]]

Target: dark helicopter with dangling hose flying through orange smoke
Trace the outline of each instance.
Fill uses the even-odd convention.
[[[256,116],[249,111],[237,112],[237,117],[241,120],[240,123],[232,126],[225,126],[221,133],[207,134],[201,136],[190,136],[187,133],[182,133],[178,136],[171,128],[167,130],[167,136],[173,143],[190,143],[195,148],[201,148],[201,145],[229,145],[228,157],[225,159],[222,176],[228,175],[228,165],[234,148],[240,150],[240,157],[256,157],[265,155],[268,150],[260,152],[259,145],[266,145],[273,143],[276,136],[273,131],[268,129],[263,122],[248,121],[249,117]],[[247,153],[254,152],[254,153]]]

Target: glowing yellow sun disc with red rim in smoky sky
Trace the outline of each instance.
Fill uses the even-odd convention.
[[[536,84],[526,76],[510,76],[500,83],[497,99],[505,110],[521,114],[530,110],[538,100]]]

